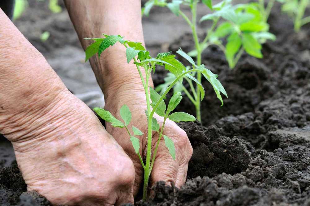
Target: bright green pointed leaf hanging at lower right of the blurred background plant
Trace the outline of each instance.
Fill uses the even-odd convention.
[[[242,45],[248,54],[256,58],[263,58],[263,54],[261,53],[262,45],[259,44],[252,34],[242,34]]]

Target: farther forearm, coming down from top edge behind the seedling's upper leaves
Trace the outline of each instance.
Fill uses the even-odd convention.
[[[102,37],[102,33],[120,34],[125,36],[126,40],[144,44],[141,1],[119,0],[116,3],[114,0],[65,0],[64,2],[84,49],[93,41],[83,38]],[[127,64],[125,51],[126,48],[123,45],[116,44],[106,49],[101,54],[100,60],[98,56],[90,59],[97,81],[106,98],[109,91],[115,90],[115,87],[122,84],[141,88],[137,68],[131,62]],[[145,77],[144,73],[143,75]],[[149,82],[152,86],[151,79]]]

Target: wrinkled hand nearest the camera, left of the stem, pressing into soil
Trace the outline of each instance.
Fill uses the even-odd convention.
[[[55,205],[133,203],[131,159],[68,90],[43,108],[9,116],[1,132],[13,144],[28,191]]]

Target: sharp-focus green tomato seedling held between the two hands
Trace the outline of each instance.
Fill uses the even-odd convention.
[[[147,152],[146,159],[142,159],[140,152],[140,142],[137,136],[143,135],[142,131],[140,131],[137,127],[132,126],[130,129],[129,124],[131,122],[131,111],[129,110],[127,105],[123,105],[120,109],[120,116],[122,120],[115,118],[110,112],[101,109],[94,108],[95,112],[106,122],[110,122],[113,127],[125,128],[129,138],[131,140],[132,146],[135,149],[135,152],[139,156],[141,161],[141,165],[144,168],[144,186],[143,186],[143,200],[147,198],[147,190],[148,190],[148,179],[151,174],[153,164],[156,158],[157,148],[160,140],[163,138],[168,148],[171,157],[175,159],[175,146],[173,141],[166,135],[163,135],[163,129],[165,126],[166,120],[169,118],[174,122],[180,121],[195,121],[195,117],[184,113],[184,112],[173,112],[176,106],[180,103],[182,99],[182,95],[180,92],[175,92],[171,97],[168,106],[166,106],[164,102],[164,98],[167,93],[175,84],[183,83],[183,79],[191,79],[195,83],[197,83],[197,88],[199,89],[199,95],[201,99],[203,99],[205,92],[202,88],[202,85],[199,81],[197,81],[193,77],[193,73],[200,73],[205,76],[206,79],[213,85],[215,92],[218,97],[220,97],[220,92],[226,95],[225,89],[221,85],[218,79],[218,75],[213,74],[210,70],[206,69],[204,65],[197,66],[193,59],[185,54],[182,50],[179,50],[179,54],[184,58],[188,59],[193,67],[191,69],[185,68],[184,65],[175,59],[175,55],[171,54],[171,52],[160,53],[157,54],[157,57],[153,58],[150,56],[149,52],[145,50],[144,46],[139,42],[126,41],[120,35],[105,35],[105,38],[86,38],[94,40],[86,49],[86,61],[91,58],[93,55],[100,55],[102,52],[107,49],[109,46],[113,46],[117,42],[124,45],[126,47],[126,58],[127,63],[132,62],[136,65],[136,68],[139,72],[142,86],[144,88],[145,97],[146,97],[146,105],[147,110],[145,110],[146,121],[148,125],[147,131]],[[148,88],[148,80],[151,75],[151,72],[155,72],[155,66],[163,66],[166,70],[171,72],[171,83],[167,85],[165,89],[163,89],[162,95],[158,94],[153,88]],[[142,75],[141,70],[145,71],[145,78]],[[173,76],[172,76],[173,75]],[[162,125],[159,125],[157,119],[154,118],[154,113],[163,117]],[[153,153],[153,158],[151,159],[151,148],[152,148],[152,131],[156,131],[159,135],[159,139],[157,140],[156,147]]]

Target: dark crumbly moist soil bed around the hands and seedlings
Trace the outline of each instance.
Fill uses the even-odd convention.
[[[263,45],[263,59],[243,55],[230,70],[217,47],[203,53],[203,63],[219,74],[229,99],[219,107],[204,82],[202,123],[179,123],[193,146],[186,184],[178,189],[158,182],[154,197],[136,205],[310,206],[310,27],[294,33],[278,6],[269,23],[277,40]],[[169,50],[179,47],[193,49],[190,34]],[[155,85],[166,75],[158,70]],[[184,97],[179,111],[194,114],[191,108]],[[26,192],[8,144],[3,140],[0,146],[1,205],[50,205]]]

